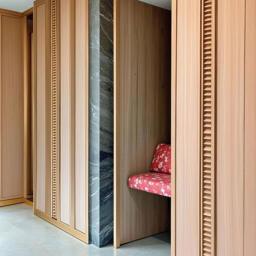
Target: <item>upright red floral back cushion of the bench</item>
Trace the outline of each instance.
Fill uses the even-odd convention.
[[[171,145],[157,145],[150,171],[171,174]]]

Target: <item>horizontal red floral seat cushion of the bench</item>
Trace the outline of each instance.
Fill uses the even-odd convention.
[[[130,188],[136,188],[146,192],[171,197],[171,175],[149,172],[130,176],[128,180]]]

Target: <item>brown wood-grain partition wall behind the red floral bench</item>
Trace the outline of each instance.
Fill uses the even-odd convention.
[[[170,229],[168,198],[128,188],[170,143],[170,11],[114,1],[114,246]],[[170,205],[169,205],[170,206]]]

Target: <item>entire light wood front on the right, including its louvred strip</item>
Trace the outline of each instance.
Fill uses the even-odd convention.
[[[172,17],[172,256],[256,255],[256,3]]]

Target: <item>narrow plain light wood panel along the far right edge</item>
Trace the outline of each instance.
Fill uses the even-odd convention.
[[[244,255],[256,255],[256,1],[246,0]]]

